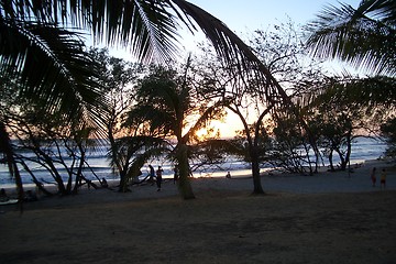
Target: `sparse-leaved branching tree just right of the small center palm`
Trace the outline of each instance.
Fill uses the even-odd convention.
[[[274,162],[274,158],[279,157],[288,169],[295,170],[298,167],[298,172],[304,170],[302,162],[298,161],[301,158],[300,156],[288,156],[288,162],[295,160],[294,162],[299,162],[300,165],[292,166],[286,165],[286,155],[280,157],[275,154],[275,152],[279,154],[280,151],[285,151],[285,148],[280,150],[283,140],[290,139],[279,134],[279,142],[275,144],[270,134],[274,125],[282,125],[286,116],[290,120],[292,116],[301,118],[297,109],[299,101],[302,100],[300,98],[311,94],[307,87],[311,87],[312,84],[318,85],[319,80],[323,78],[319,63],[307,58],[305,46],[300,42],[294,24],[288,22],[275,25],[274,29],[270,32],[256,30],[251,36],[250,44],[255,56],[271,72],[271,75],[277,78],[277,82],[283,85],[288,94],[288,100],[294,102],[293,107],[284,103],[282,97],[267,90],[265,84],[257,81],[254,72],[248,72],[243,76],[234,75],[232,66],[224,65],[210,53],[208,47],[204,47],[204,57],[199,61],[200,92],[208,98],[222,98],[230,114],[238,117],[243,125],[243,131],[234,144],[239,148],[238,155],[243,156],[252,164],[254,193],[256,194],[264,193],[260,183],[260,164],[267,162],[279,165],[280,160],[277,163]],[[287,108],[288,110],[286,110]],[[280,112],[285,112],[285,117]],[[268,123],[268,120],[272,122]],[[298,125],[301,130],[300,136],[293,139],[297,140],[298,144],[289,145],[289,147],[294,147],[293,151],[296,151],[296,147],[301,146],[301,133],[307,128],[300,124],[305,120],[296,118],[294,120],[293,124]],[[294,128],[290,127],[292,129]],[[278,131],[280,133],[282,129]],[[306,132],[304,136],[308,138]],[[309,142],[305,145],[307,150],[314,147],[310,146],[311,141],[308,139],[305,139],[304,142]],[[276,151],[273,147],[277,147]],[[287,153],[289,154],[289,152]]]

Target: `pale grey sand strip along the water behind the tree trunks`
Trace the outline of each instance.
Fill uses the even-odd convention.
[[[312,176],[304,176],[299,174],[290,173],[266,173],[261,175],[261,185],[266,194],[342,194],[342,193],[375,193],[383,190],[380,187],[380,169],[377,170],[377,186],[372,187],[370,173],[371,169],[376,166],[378,168],[387,167],[387,186],[386,190],[396,190],[396,164],[388,163],[387,161],[367,161],[361,166],[356,166],[352,173],[349,172],[328,172],[322,169],[318,174]],[[69,195],[61,197],[54,195],[52,197],[45,197],[38,195],[38,201],[28,202],[30,204],[52,204],[52,200],[56,200],[55,204],[59,205],[59,201],[66,204],[73,204],[80,199],[80,202],[92,201],[123,201],[123,200],[144,200],[144,199],[163,199],[166,197],[179,197],[177,185],[173,183],[173,179],[164,179],[163,188],[161,191],[156,191],[156,185],[153,186],[148,183],[133,185],[130,187],[131,191],[127,194],[118,193],[118,180],[108,182],[109,187],[88,189],[81,187],[77,195]],[[207,194],[251,194],[253,191],[253,177],[251,174],[232,176],[231,179],[224,177],[198,177],[191,178],[193,191],[196,197],[205,196]],[[54,193],[55,186],[51,187]],[[25,190],[35,190],[34,186],[25,188]],[[10,198],[15,198],[15,188],[6,189]],[[70,197],[70,201],[68,200]],[[61,199],[57,199],[61,198]],[[24,202],[26,204],[26,202]],[[0,206],[3,207],[3,206]],[[1,209],[1,208],[0,208]]]

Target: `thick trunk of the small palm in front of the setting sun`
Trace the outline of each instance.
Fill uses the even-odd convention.
[[[179,180],[178,180],[178,189],[180,196],[184,199],[194,199],[194,193],[191,188],[191,184],[189,182],[189,165],[187,157],[187,146],[185,144],[179,144],[177,146],[176,158],[179,167]]]

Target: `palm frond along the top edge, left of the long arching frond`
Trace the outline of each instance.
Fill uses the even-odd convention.
[[[62,23],[90,31],[97,42],[121,43],[142,61],[175,57],[177,24],[166,1],[154,0],[16,0],[1,1],[4,16],[13,20]]]

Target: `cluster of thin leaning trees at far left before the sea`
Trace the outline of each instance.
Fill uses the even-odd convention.
[[[59,116],[37,117],[38,111],[28,110],[18,116],[8,113],[7,120],[2,120],[15,139],[12,143],[15,163],[29,173],[33,183],[46,195],[52,193],[44,184],[55,184],[61,195],[76,194],[82,182],[90,185],[85,173],[89,168],[86,153],[92,145],[89,140],[92,130],[70,129],[64,125]],[[45,169],[54,183],[37,178],[35,167]]]

